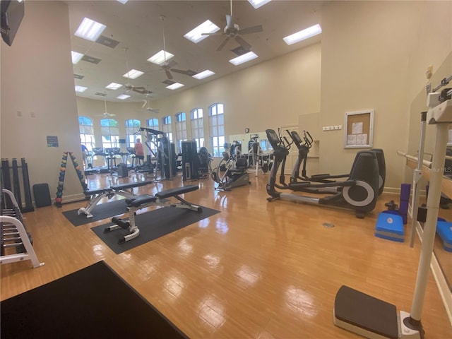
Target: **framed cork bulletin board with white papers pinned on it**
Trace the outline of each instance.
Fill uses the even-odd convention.
[[[345,113],[344,148],[371,148],[374,109]]]

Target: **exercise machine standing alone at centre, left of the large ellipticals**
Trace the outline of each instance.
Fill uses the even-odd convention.
[[[223,152],[222,160],[218,166],[212,171],[212,179],[218,185],[215,187],[218,191],[230,191],[234,187],[251,184],[249,174],[246,172],[248,162],[245,157],[234,157],[227,152]],[[220,172],[224,171],[223,174]]]

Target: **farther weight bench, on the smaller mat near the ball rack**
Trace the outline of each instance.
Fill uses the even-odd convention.
[[[136,196],[133,194],[133,189],[136,187],[145,186],[148,184],[152,184],[153,182],[147,181],[147,182],[132,182],[129,184],[119,184],[114,186],[105,187],[103,189],[95,189],[93,191],[83,191],[83,194],[85,196],[90,197],[90,203],[86,207],[80,208],[77,213],[78,215],[81,215],[82,213],[86,215],[86,218],[93,218],[93,214],[91,214],[91,211],[97,203],[99,203],[100,199],[102,198],[113,198],[115,194],[118,194],[119,196],[124,196],[125,198],[133,198]]]

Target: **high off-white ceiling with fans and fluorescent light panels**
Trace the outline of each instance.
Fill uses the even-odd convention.
[[[258,59],[240,66],[234,66],[229,62],[230,59],[237,57],[237,54],[232,52],[232,49],[239,47],[235,40],[230,39],[218,52],[217,49],[225,40],[225,35],[209,36],[198,44],[184,37],[186,32],[208,19],[218,25],[222,32],[226,26],[225,16],[231,13],[231,3],[228,0],[129,0],[124,5],[116,0],[64,2],[69,5],[72,50],[101,60],[98,64],[81,60],[73,66],[74,74],[83,76],[83,79],[74,78],[75,84],[88,88],[84,93],[77,95],[104,100],[104,97],[95,93],[107,93],[106,100],[122,102],[123,100],[116,97],[126,91],[124,86],[118,90],[107,90],[105,86],[112,82],[131,83],[135,87],[143,86],[152,91],[148,95],[149,99],[155,100],[319,42],[321,35],[289,46],[283,41],[283,37],[320,23],[320,10],[325,1],[273,0],[257,9],[246,0],[232,1],[232,17],[240,29],[254,25],[263,26],[263,32],[242,35],[242,38],[251,44],[251,50],[258,55]],[[164,20],[161,19],[162,16],[165,17]],[[74,32],[84,17],[107,25],[102,35],[117,40],[119,44],[111,48],[76,37]],[[215,76],[197,80],[172,72],[174,77],[172,80],[185,86],[177,90],[167,89],[167,84],[162,83],[167,80],[165,71],[147,61],[149,57],[163,49],[164,28],[166,50],[174,54],[171,60],[177,62],[174,69],[190,69],[196,73],[210,69],[215,72]],[[127,81],[122,76],[127,71],[126,64],[129,69],[137,69],[145,74]],[[126,94],[131,97],[124,102],[146,99],[145,95],[131,90]]]

